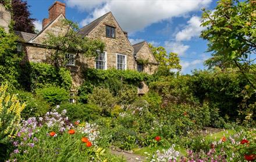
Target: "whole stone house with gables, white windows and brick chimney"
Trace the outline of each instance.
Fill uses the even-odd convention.
[[[42,21],[42,31],[38,34],[16,31],[26,50],[26,60],[30,62],[47,62],[47,56],[51,53],[44,45],[48,32],[55,35],[62,35],[67,32],[61,20],[65,19],[65,3],[55,1],[48,10],[49,16]],[[104,14],[98,19],[77,31],[77,34],[91,39],[100,39],[105,42],[103,53],[99,52],[96,58],[88,59],[84,56],[74,58],[74,54],[66,55],[69,59],[67,67],[70,68],[73,78],[73,89],[83,83],[82,72],[85,68],[136,70],[152,74],[157,70],[157,61],[151,53],[147,42],[131,45],[127,32],[123,31],[118,21],[111,12]],[[147,64],[141,64],[146,60]],[[138,90],[138,93],[147,92],[147,86]]]

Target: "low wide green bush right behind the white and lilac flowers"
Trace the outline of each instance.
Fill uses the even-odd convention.
[[[66,109],[66,115],[69,117],[71,121],[90,121],[96,120],[101,116],[102,109],[97,105],[91,104],[61,104],[58,112],[62,112]]]

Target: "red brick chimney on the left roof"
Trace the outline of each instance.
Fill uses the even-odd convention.
[[[49,7],[49,17],[42,20],[42,29],[44,29],[52,20],[56,19],[61,13],[65,16],[66,12],[65,3],[61,3],[59,1],[55,1],[51,7]]]

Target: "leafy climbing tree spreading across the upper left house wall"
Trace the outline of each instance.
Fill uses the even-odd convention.
[[[100,40],[93,40],[82,35],[77,34],[78,25],[70,20],[62,20],[63,28],[67,28],[67,32],[63,35],[55,35],[48,33],[48,38],[44,41],[44,44],[49,49],[55,49],[49,61],[55,65],[55,67],[65,67],[65,56],[68,53],[73,53],[74,58],[78,58],[79,54],[83,54],[86,57],[97,56],[97,50],[103,52],[105,43]]]

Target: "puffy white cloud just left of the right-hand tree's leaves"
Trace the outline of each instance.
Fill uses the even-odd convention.
[[[182,31],[177,32],[177,41],[189,41],[194,36],[199,36],[200,32],[204,30],[204,27],[200,27],[201,18],[198,16],[191,17],[187,24]]]

